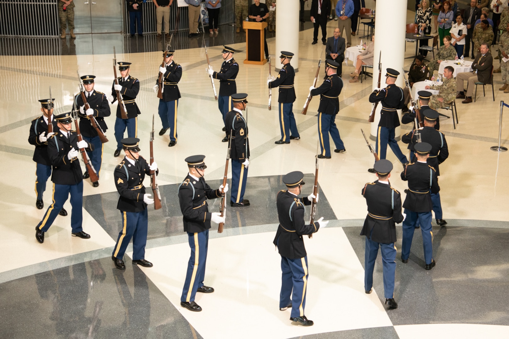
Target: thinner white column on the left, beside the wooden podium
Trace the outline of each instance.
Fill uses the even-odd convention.
[[[299,68],[299,2],[296,0],[277,0],[276,5],[276,50],[270,51],[275,54],[276,69],[281,69],[279,53],[287,51],[294,54],[292,66],[295,71]],[[406,16],[405,16],[406,18]]]

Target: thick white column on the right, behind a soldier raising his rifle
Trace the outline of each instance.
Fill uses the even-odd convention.
[[[405,60],[405,34],[407,20],[407,1],[390,0],[390,6],[385,1],[376,2],[376,22],[375,22],[375,55],[373,60],[373,89],[377,87],[378,82],[378,60],[380,51],[382,51],[382,79],[380,86],[384,88],[385,73],[387,68],[392,68],[400,72],[396,84],[400,87],[405,86],[403,80],[403,63]],[[375,112],[375,121],[371,124],[371,135],[376,137],[378,130],[378,121],[380,121],[379,104]],[[398,110],[398,116],[401,121],[401,110]],[[396,128],[395,136],[400,136],[400,128]]]

